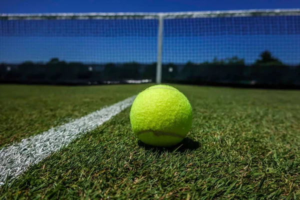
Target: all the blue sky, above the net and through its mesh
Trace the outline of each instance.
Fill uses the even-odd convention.
[[[2,0],[2,13],[168,12],[298,8],[299,0]],[[300,63],[300,17],[235,17],[164,21],[162,60],[184,63],[237,55],[251,63],[270,50]],[[0,21],[0,62],[153,62],[156,20]]]

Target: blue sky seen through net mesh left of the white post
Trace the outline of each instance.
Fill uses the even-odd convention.
[[[155,19],[0,20],[0,61],[153,62]]]

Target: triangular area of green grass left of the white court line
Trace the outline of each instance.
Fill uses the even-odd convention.
[[[0,146],[118,102],[145,86],[0,85]]]

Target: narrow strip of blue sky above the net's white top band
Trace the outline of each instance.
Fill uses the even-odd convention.
[[[172,12],[299,7],[299,0],[1,0],[0,12]]]

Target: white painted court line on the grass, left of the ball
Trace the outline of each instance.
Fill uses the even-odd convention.
[[[135,95],[41,134],[22,139],[19,143],[3,147],[0,149],[0,185],[7,179],[10,181],[17,177],[29,166],[40,162],[75,138],[109,120],[130,106],[134,98]]]

